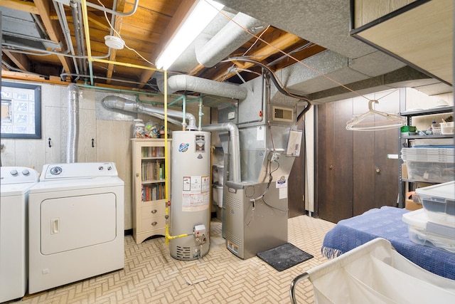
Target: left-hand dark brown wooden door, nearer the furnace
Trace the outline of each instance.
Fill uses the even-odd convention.
[[[353,216],[353,133],[346,130],[353,100],[318,105],[316,208],[336,223]]]

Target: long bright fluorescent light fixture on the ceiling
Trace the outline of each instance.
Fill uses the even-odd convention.
[[[218,4],[213,0],[199,0],[191,14],[173,35],[171,42],[156,59],[156,68],[167,70],[223,7],[223,4]]]

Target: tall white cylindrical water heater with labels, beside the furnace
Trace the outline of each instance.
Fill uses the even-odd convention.
[[[178,260],[208,253],[210,228],[210,132],[173,131],[169,251]]]

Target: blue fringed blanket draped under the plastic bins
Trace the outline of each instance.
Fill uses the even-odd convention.
[[[455,280],[455,253],[413,243],[402,215],[409,212],[390,206],[339,221],[326,234],[321,253],[335,258],[375,238],[384,238],[395,250],[418,266],[444,278]]]

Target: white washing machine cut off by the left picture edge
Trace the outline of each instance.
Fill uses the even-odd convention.
[[[0,167],[0,303],[22,298],[28,275],[28,189],[39,174],[26,167]]]

